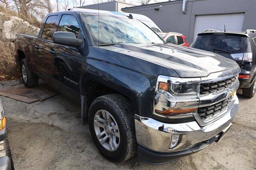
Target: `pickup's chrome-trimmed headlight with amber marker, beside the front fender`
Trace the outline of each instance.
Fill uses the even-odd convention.
[[[158,76],[154,114],[175,117],[196,113],[200,83],[200,78]]]

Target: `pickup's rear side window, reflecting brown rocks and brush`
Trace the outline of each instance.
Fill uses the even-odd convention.
[[[55,27],[55,22],[57,20],[58,16],[49,16],[45,22],[44,25],[44,30],[42,32],[42,38],[44,40],[52,40],[52,35],[54,33],[54,27]]]

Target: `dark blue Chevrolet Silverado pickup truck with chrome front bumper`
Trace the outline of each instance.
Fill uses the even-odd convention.
[[[238,110],[240,67],[216,53],[166,44],[142,22],[73,8],[16,36],[26,87],[42,79],[81,103],[98,150],[164,164],[220,140]]]

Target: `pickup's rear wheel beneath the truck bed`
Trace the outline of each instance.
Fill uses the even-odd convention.
[[[23,84],[26,87],[36,87],[38,85],[38,77],[36,77],[28,69],[28,64],[26,59],[21,60],[21,75],[22,75]]]

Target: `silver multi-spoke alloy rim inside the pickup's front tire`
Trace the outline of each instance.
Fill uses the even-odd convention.
[[[108,151],[117,150],[120,144],[120,132],[116,120],[106,110],[94,115],[94,130],[100,144]]]

